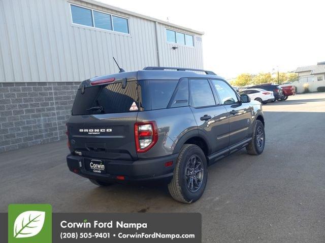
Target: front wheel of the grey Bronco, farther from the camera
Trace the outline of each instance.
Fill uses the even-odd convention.
[[[261,133],[260,133],[261,132]],[[262,136],[261,136],[262,134]],[[261,140],[262,138],[262,140]],[[262,144],[261,144],[262,142]],[[254,130],[252,140],[246,146],[248,154],[258,155],[261,154],[265,147],[265,130],[261,120],[256,120],[254,124]]]

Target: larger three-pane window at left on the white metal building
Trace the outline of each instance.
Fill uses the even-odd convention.
[[[127,18],[79,7],[72,4],[70,5],[70,8],[72,23],[74,24],[81,24],[126,34],[129,33]]]

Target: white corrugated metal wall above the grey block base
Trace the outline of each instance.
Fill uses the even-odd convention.
[[[113,56],[127,71],[158,64],[155,22],[71,3],[129,18],[130,34],[73,25],[66,0],[0,0],[0,82],[77,82],[117,72]],[[173,50],[165,27],[157,28],[160,66],[203,68],[201,36]]]

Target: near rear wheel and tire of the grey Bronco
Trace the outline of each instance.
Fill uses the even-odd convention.
[[[195,172],[194,167],[201,171]],[[207,159],[202,149],[194,144],[184,144],[176,161],[173,179],[168,184],[169,193],[175,200],[191,204],[202,196],[207,179]]]

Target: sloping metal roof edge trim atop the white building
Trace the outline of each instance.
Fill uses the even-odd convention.
[[[112,5],[104,4],[102,2],[98,2],[98,1],[94,1],[94,0],[81,0],[81,1],[85,2],[85,3],[101,6],[103,8],[112,9],[112,10],[115,10],[115,11],[118,11],[118,12],[121,12],[121,13],[133,15],[133,16],[136,16],[136,17],[139,17],[139,18],[143,18],[143,19],[154,21],[154,22],[158,22],[158,23],[161,23],[161,24],[164,24],[164,25],[168,25],[168,26],[172,26],[172,27],[175,27],[175,28],[187,30],[187,31],[190,31],[190,32],[193,32],[193,33],[197,33],[197,34],[201,34],[201,35],[204,34],[203,31],[194,30],[194,29],[191,29],[191,28],[187,28],[187,27],[177,25],[177,24],[172,24],[172,23],[164,21],[164,20],[160,20],[160,19],[156,19],[156,18],[149,17],[149,16],[146,16],[146,15],[138,14],[138,13],[135,13],[135,12],[132,12],[132,11],[128,11],[128,10],[125,10],[125,9],[114,7]]]

